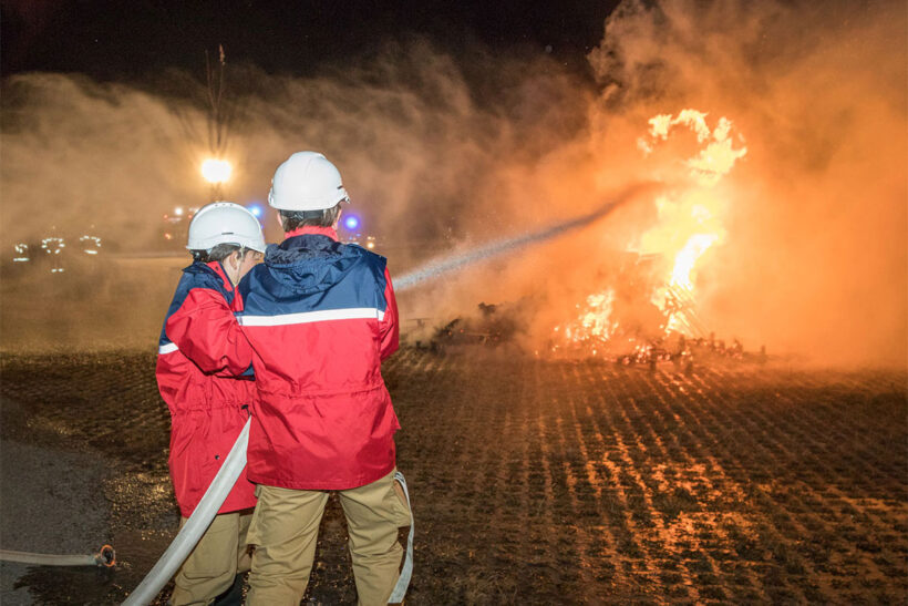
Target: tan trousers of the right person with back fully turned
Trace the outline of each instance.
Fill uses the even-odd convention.
[[[398,582],[403,555],[398,528],[410,525],[410,510],[395,485],[391,472],[371,484],[338,491],[362,606],[388,604]],[[249,543],[256,549],[246,603],[298,606],[309,584],[328,492],[259,484],[256,495],[249,527]]]

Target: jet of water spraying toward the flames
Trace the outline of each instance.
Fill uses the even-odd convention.
[[[419,269],[410,271],[409,274],[405,274],[404,276],[394,280],[394,290],[407,290],[419,285],[420,283],[437,278],[438,276],[447,274],[450,271],[456,271],[457,269],[473,265],[474,263],[478,263],[481,260],[485,260],[492,257],[497,257],[506,253],[514,253],[516,250],[519,250],[520,248],[526,248],[527,246],[540,244],[543,242],[560,236],[566,232],[579,229],[580,227],[586,227],[595,220],[598,220],[607,216],[609,213],[611,213],[612,210],[615,210],[616,208],[618,208],[619,206],[621,206],[622,204],[638,195],[641,192],[641,189],[648,188],[649,185],[650,184],[630,187],[622,194],[618,195],[615,199],[605,203],[602,206],[600,206],[592,213],[589,213],[588,215],[584,215],[581,217],[577,217],[571,220],[555,225],[553,227],[548,227],[539,232],[534,232],[532,234],[524,234],[523,236],[515,236],[493,242],[475,250],[470,250],[466,253],[455,254],[448,257],[431,260],[424,266],[420,267]]]

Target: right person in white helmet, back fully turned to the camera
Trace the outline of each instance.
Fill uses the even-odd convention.
[[[398,308],[385,259],[338,242],[344,202],[331,162],[291,155],[268,196],[286,239],[238,289],[258,388],[247,449],[258,496],[251,605],[299,604],[328,491],[347,517],[359,604],[386,604],[399,576],[410,511],[394,482],[400,425],[381,377],[398,349]]]

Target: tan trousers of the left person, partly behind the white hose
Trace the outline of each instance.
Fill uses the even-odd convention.
[[[215,516],[176,574],[171,598],[174,606],[211,604],[234,584],[237,574],[249,569],[251,557],[246,534],[251,518],[249,510]],[[180,528],[187,520],[180,521]]]

